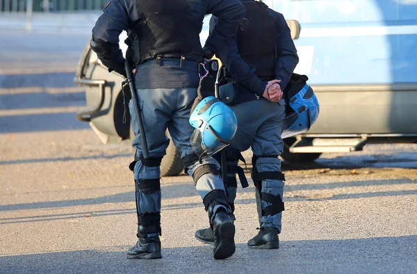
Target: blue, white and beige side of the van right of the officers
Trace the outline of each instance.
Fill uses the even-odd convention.
[[[300,63],[320,101],[306,136],[417,135],[417,0],[270,0],[300,23]]]

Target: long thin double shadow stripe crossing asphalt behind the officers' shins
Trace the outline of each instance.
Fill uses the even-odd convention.
[[[333,196],[315,197],[315,196],[294,196],[291,197],[291,191],[300,190],[317,190],[317,189],[336,189],[342,187],[366,187],[366,186],[378,186],[378,185],[401,185],[417,183],[416,180],[409,179],[397,179],[397,180],[368,180],[368,181],[352,181],[352,182],[334,182],[329,184],[304,184],[304,185],[286,185],[284,200],[288,202],[300,202],[300,201],[318,201],[318,200],[340,200],[340,199],[355,199],[355,198],[371,198],[371,197],[387,197],[387,196],[407,196],[417,195],[417,190],[403,190],[403,191],[378,191],[378,192],[361,192],[354,194],[335,194]],[[185,184],[167,185],[162,187],[162,198],[179,198],[179,197],[191,197],[198,196],[197,191],[190,181]],[[62,191],[60,191],[62,192]],[[242,192],[253,192],[254,187],[247,189],[238,189],[238,195],[236,204],[251,204],[256,203],[255,198],[240,199],[239,193]],[[0,205],[0,212],[13,211],[13,210],[24,210],[24,209],[46,209],[54,207],[72,207],[80,205],[102,205],[104,203],[134,203],[135,195],[134,188],[131,187],[131,191],[113,194],[108,196],[101,196],[97,198],[85,198],[75,200],[57,200],[51,202],[40,202],[40,203],[20,203],[15,205]],[[177,209],[193,209],[195,207],[202,207],[203,203],[177,203],[171,205],[163,205],[162,212],[167,210]],[[132,209],[120,209],[120,210],[103,210],[95,211],[94,216],[108,216],[108,215],[120,215],[120,214],[133,214],[134,207]],[[86,214],[91,212],[74,212],[70,214],[52,214],[52,215],[37,215],[35,217],[16,217],[8,219],[0,219],[0,224],[4,223],[24,223],[24,222],[35,222],[35,221],[52,221],[56,219],[77,219],[84,218]]]

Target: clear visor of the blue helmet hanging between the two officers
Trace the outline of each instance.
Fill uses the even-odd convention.
[[[204,145],[204,136],[202,135],[202,132],[200,130],[194,130],[193,135],[191,135],[190,138],[190,144],[193,148],[193,151],[195,154],[198,155],[200,160],[207,159],[211,156],[213,156],[215,153],[218,153],[222,150],[222,148],[225,148],[229,144],[224,142],[221,138],[217,138],[214,130],[211,128],[211,126],[208,126],[208,132],[204,132],[204,135],[211,134],[215,138],[213,142],[211,142],[210,146]]]

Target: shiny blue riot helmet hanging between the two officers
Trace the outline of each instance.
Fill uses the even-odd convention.
[[[190,144],[203,160],[231,143],[238,129],[238,119],[225,103],[208,96],[191,113],[190,125],[195,128]]]

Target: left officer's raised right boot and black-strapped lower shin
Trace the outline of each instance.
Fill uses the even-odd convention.
[[[214,234],[213,257],[226,259],[234,254],[235,226],[231,219],[229,203],[223,190],[211,191],[203,200],[210,219],[210,226]]]

